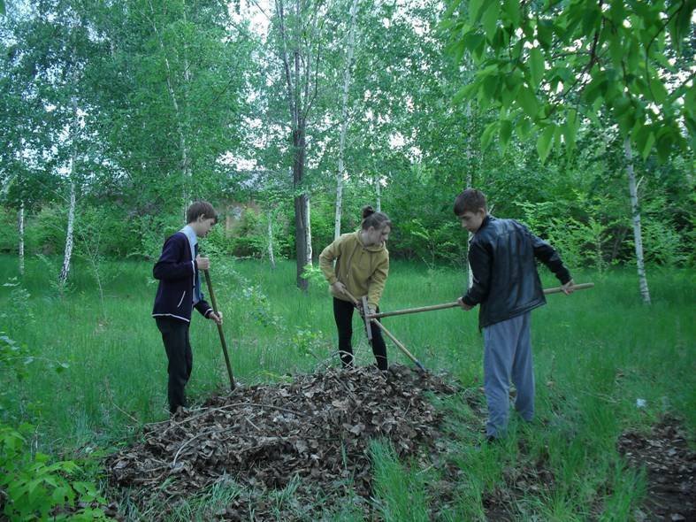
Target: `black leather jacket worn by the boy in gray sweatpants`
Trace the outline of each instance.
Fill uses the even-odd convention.
[[[547,265],[562,284],[570,281],[570,272],[551,245],[514,219],[486,216],[469,242],[474,281],[463,296],[464,303],[481,305],[479,328],[522,315],[547,302],[536,259]]]

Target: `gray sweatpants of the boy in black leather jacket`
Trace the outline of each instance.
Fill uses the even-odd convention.
[[[488,403],[486,434],[496,437],[508,426],[510,380],[515,384],[515,409],[534,416],[534,371],[530,343],[532,312],[484,328],[484,390]]]

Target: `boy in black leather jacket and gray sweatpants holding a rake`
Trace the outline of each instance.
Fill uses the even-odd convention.
[[[464,310],[480,305],[486,436],[493,440],[508,426],[510,380],[517,390],[516,411],[527,421],[534,415],[530,312],[546,303],[536,259],[555,273],[565,294],[573,291],[573,280],[547,242],[514,219],[488,214],[486,196],[480,190],[464,190],[456,197],[454,210],[462,226],[474,234],[469,243],[473,284],[457,302]]]

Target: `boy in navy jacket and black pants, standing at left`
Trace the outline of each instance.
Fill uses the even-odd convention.
[[[197,201],[186,212],[187,226],[164,242],[162,255],[152,273],[159,280],[152,317],[162,334],[169,365],[169,411],[186,406],[184,388],[191,377],[193,353],[188,338],[191,312],[195,308],[206,319],[222,324],[222,312],[216,314],[201,292],[198,270],[208,270],[208,257],[198,255],[198,238],[205,237],[215,225],[217,214],[210,203]]]

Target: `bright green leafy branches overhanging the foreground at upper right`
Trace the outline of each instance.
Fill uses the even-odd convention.
[[[542,162],[553,147],[574,150],[577,111],[596,121],[602,107],[644,158],[692,145],[692,0],[447,4],[450,49],[478,69],[455,102],[500,109],[518,130],[531,122]],[[497,130],[504,146],[509,129]]]

